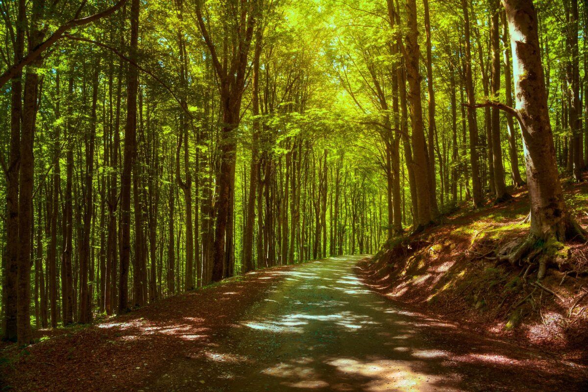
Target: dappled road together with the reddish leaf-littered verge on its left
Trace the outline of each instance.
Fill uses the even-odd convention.
[[[263,270],[29,346],[18,391],[586,391],[588,369],[380,295],[360,256]]]

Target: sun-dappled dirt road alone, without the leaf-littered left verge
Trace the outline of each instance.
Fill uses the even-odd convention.
[[[403,310],[353,273],[359,259],[288,270],[206,350],[170,361],[142,390],[588,390],[584,367]]]

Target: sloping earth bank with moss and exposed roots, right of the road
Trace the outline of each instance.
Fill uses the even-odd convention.
[[[588,228],[588,183],[563,180],[572,215]],[[462,206],[441,225],[390,242],[362,264],[380,294],[479,333],[588,364],[588,243],[562,244],[567,271],[534,283],[525,267],[499,265],[496,251],[529,232],[526,187],[510,202],[472,212]],[[548,290],[556,294],[554,296]]]

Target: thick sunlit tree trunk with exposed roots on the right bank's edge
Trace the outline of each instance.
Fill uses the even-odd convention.
[[[537,242],[546,248],[552,241],[584,239],[583,230],[570,216],[557,173],[547,93],[537,32],[537,13],[532,0],[504,0],[510,43],[515,58],[516,114],[525,145],[525,162],[531,202],[530,236],[508,259],[515,262]],[[539,259],[542,278],[548,250]]]

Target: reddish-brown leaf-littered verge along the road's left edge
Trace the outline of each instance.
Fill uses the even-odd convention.
[[[38,331],[51,339],[0,351],[0,391],[141,390],[170,361],[214,345],[291,268],[225,280],[90,327]]]

